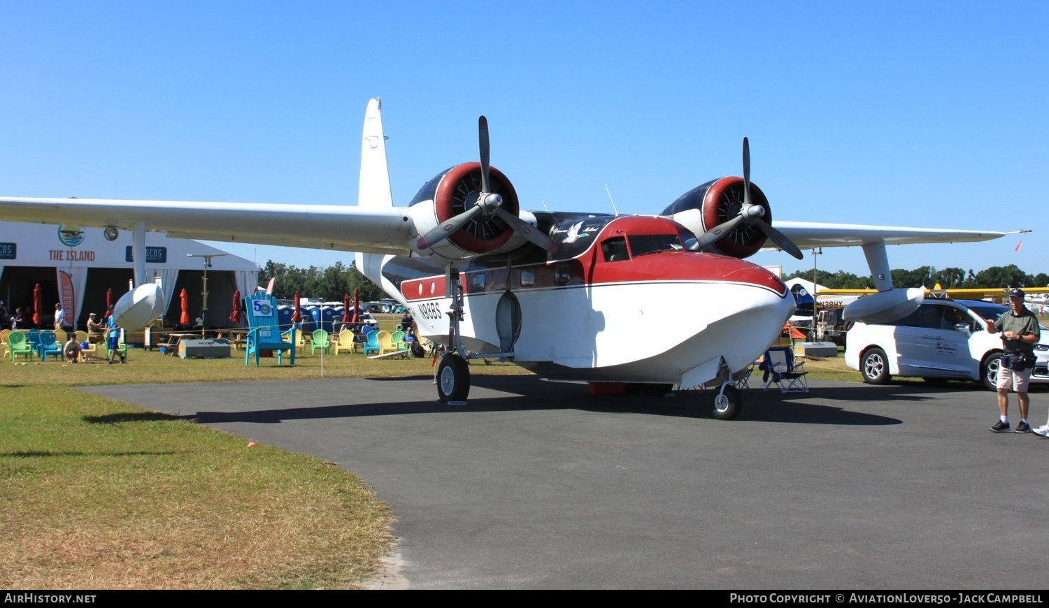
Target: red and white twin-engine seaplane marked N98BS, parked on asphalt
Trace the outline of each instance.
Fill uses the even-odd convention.
[[[1010,234],[773,222],[750,180],[746,138],[742,177],[707,181],[654,215],[526,211],[490,165],[484,116],[478,160],[437,173],[398,207],[381,109],[379,99],[367,104],[356,205],[0,197],[0,218],[131,231],[137,286],[114,308],[125,327],[165,308],[145,276],[147,231],[352,252],[358,269],[411,310],[420,334],[443,346],[441,401],[466,401],[469,360],[497,357],[552,379],[644,392],[709,387],[721,419],[740,413],[733,382],[795,309],[783,280],[745,258],[762,248],[800,259],[802,248],[861,246],[878,292],[851,304],[849,316],[878,322],[923,298],[893,288],[886,245]]]

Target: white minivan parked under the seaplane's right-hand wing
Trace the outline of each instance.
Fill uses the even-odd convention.
[[[845,364],[870,384],[905,375],[928,382],[980,381],[997,390],[1002,334],[988,333],[984,320],[998,319],[1008,310],[1008,306],[981,300],[927,299],[896,322],[854,324],[845,341]],[[1049,335],[1043,332],[1042,340],[1049,341]],[[1034,349],[1041,361],[1049,345],[1040,342]],[[1049,375],[1035,372],[1031,383],[1049,383]]]

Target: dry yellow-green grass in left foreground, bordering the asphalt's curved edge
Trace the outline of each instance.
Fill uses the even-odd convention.
[[[355,476],[56,386],[74,367],[0,367],[0,585],[338,588],[388,552]]]

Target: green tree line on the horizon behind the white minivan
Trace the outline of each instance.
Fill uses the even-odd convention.
[[[1008,266],[991,266],[973,273],[972,269],[962,268],[941,268],[933,266],[919,266],[913,270],[894,268],[891,270],[894,287],[928,287],[933,288],[937,283],[944,289],[964,289],[973,287],[1046,287],[1049,286],[1049,275],[1039,273],[1028,275],[1021,270],[1015,264]],[[816,279],[813,278],[813,270],[795,270],[787,277],[788,280],[802,278],[807,281],[818,283],[830,289],[873,289],[874,282],[870,276],[858,277],[852,273],[838,270],[829,273],[827,270],[816,270]]]

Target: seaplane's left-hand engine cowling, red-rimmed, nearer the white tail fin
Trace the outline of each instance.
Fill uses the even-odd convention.
[[[492,193],[502,197],[502,209],[518,215],[520,205],[513,183],[494,167],[489,168],[489,175]],[[437,225],[446,224],[451,218],[472,208],[481,191],[480,184],[479,162],[456,165],[427,181],[409,203],[419,234],[426,234]],[[433,245],[431,251],[449,260],[474,257],[498,249],[507,244],[513,234],[513,229],[494,214],[483,213]]]

